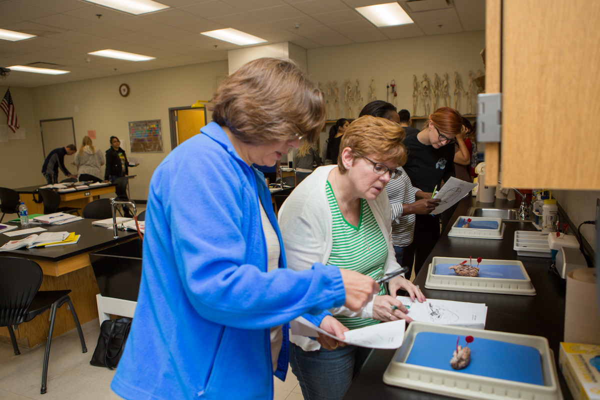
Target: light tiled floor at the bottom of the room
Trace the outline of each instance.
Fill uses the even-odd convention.
[[[0,343],[0,399],[120,399],[110,390],[110,380],[115,371],[89,365],[100,334],[98,320],[89,321],[82,328],[87,353],[81,352],[76,329],[52,339],[45,395],[40,394],[44,346],[33,350],[21,348],[21,354],[15,356],[11,344]],[[275,379],[274,390],[275,400],[303,399],[298,381],[291,370],[285,382]]]

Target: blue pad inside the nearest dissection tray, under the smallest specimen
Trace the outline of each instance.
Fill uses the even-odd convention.
[[[419,332],[407,364],[427,366],[445,371],[499,378],[515,382],[544,385],[542,359],[539,351],[530,346],[507,343],[491,339],[475,338],[469,343],[471,362],[464,369],[452,369],[450,360],[458,344],[467,343],[465,336],[450,333]],[[400,360],[396,359],[396,362]]]

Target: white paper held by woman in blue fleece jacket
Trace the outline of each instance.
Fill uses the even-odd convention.
[[[379,323],[344,332],[346,339],[341,340],[315,326],[313,323],[310,323],[306,318],[298,317],[295,318],[295,320],[290,321],[292,335],[316,337],[319,336],[319,333],[323,333],[340,342],[368,348],[400,347],[404,341],[405,327],[406,321],[404,320]]]

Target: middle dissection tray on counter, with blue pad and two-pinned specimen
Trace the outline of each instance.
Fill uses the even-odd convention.
[[[469,259],[433,257],[425,287],[437,290],[476,291],[479,293],[521,294],[535,296],[535,288],[521,261],[484,259],[479,263],[479,276],[459,276],[448,269]],[[474,262],[473,266],[477,266]]]

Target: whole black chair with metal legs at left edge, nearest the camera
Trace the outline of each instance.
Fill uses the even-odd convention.
[[[31,321],[38,315],[50,310],[50,326],[46,339],[46,352],[44,353],[44,365],[41,374],[40,393],[46,393],[46,379],[48,375],[48,358],[50,356],[50,344],[52,343],[52,332],[56,318],[56,309],[67,303],[71,309],[79,340],[81,341],[82,353],[88,349],[85,347],[85,339],[79,324],[79,318],[73,308],[69,297],[71,290],[43,290],[40,285],[43,278],[41,267],[32,260],[19,257],[0,257],[0,326],[8,328],[8,334],[13,342],[14,355],[20,353],[17,339],[14,336],[13,326]]]

